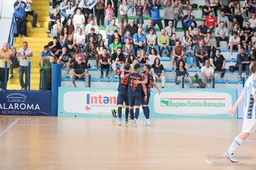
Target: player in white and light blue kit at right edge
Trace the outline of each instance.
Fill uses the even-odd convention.
[[[255,131],[256,126],[256,62],[250,63],[249,70],[252,72],[252,75],[246,80],[241,96],[236,101],[236,104],[228,110],[228,115],[235,115],[236,108],[241,104],[241,101],[244,100],[243,129],[241,134],[236,136],[227,152],[225,152],[225,158],[233,163],[238,162],[233,152],[253,131]]]

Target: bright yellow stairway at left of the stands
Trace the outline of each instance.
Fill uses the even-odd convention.
[[[33,52],[31,58],[31,90],[39,90],[39,53],[43,50],[52,38],[48,38],[48,16],[49,16],[49,0],[34,0],[32,9],[37,12],[37,26],[39,28],[31,28],[32,16],[28,16],[29,22],[27,23],[28,37],[18,38],[15,37],[14,46],[18,50],[22,46],[22,42],[28,42],[29,48]],[[8,81],[8,90],[20,90],[19,82],[19,69],[14,69],[14,79]],[[24,76],[25,77],[25,76]]]

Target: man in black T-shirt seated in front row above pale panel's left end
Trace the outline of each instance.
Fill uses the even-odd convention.
[[[88,73],[88,67],[87,64],[83,62],[83,58],[78,57],[78,62],[75,62],[72,65],[72,74],[71,74],[71,80],[73,86],[76,88],[75,80],[76,79],[85,79],[86,80],[86,88],[89,87],[89,73]]]

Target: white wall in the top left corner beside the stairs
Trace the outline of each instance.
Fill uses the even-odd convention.
[[[13,4],[16,0],[4,0],[3,7],[1,7],[1,19],[0,19],[0,48],[4,42],[8,41],[10,26],[12,23],[12,14],[14,12]]]

